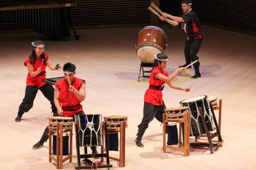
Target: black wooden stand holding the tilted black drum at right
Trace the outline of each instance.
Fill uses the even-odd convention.
[[[199,107],[198,110],[199,110],[199,115],[201,116],[203,126],[204,126],[204,129],[205,129],[205,133],[206,133],[206,136],[207,136],[207,139],[208,139],[209,143],[190,143],[190,146],[192,146],[192,147],[193,146],[210,147],[210,151],[211,151],[211,153],[213,153],[215,150],[217,150],[219,148],[219,145],[221,145],[223,143],[223,140],[221,138],[221,134],[220,134],[220,131],[219,131],[219,127],[218,127],[218,124],[217,124],[217,121],[216,121],[216,118],[215,118],[215,114],[212,113],[213,121],[216,125],[216,132],[210,134],[209,130],[207,128],[207,125],[206,125],[205,118],[204,118],[204,112],[202,111],[201,107]],[[218,136],[218,142],[217,143],[212,142],[212,138],[214,138],[215,136]]]

